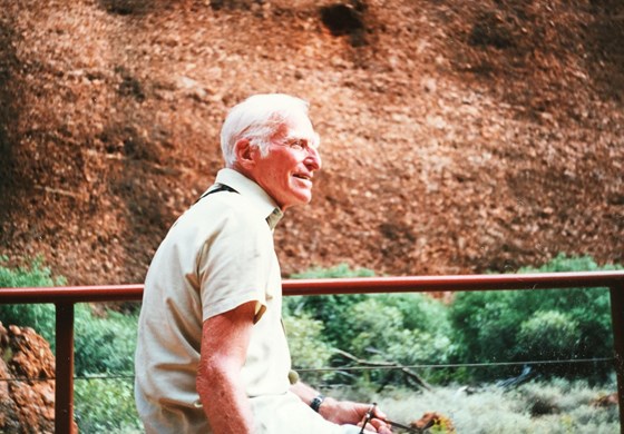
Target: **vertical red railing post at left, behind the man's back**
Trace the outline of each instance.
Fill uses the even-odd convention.
[[[55,433],[74,433],[74,304],[56,304]]]

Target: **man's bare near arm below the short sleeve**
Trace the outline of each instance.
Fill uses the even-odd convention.
[[[241,368],[245,363],[255,302],[204,322],[197,392],[211,427],[218,434],[253,433],[254,423]]]

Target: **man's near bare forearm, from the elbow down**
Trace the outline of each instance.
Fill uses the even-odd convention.
[[[215,434],[253,433],[253,413],[240,375],[211,367],[199,371],[197,392]]]

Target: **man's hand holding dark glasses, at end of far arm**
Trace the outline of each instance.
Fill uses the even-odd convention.
[[[331,397],[325,398],[319,413],[330,422],[339,425],[352,424],[362,426],[370,404],[360,404],[351,401],[337,401]],[[373,408],[371,421],[367,424],[367,431],[379,434],[391,434],[390,425],[383,422],[388,416],[377,406]]]

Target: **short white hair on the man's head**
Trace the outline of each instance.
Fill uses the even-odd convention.
[[[234,145],[241,139],[248,139],[265,156],[279,128],[293,114],[308,116],[308,101],[285,93],[254,95],[234,106],[221,128],[221,150],[226,166],[236,161]]]

